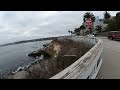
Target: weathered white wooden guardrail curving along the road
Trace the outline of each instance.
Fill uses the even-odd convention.
[[[93,43],[94,46],[81,58],[50,79],[95,79],[102,64],[103,42],[99,38],[89,36],[68,38]]]

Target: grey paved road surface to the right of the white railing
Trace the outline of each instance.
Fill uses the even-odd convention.
[[[120,79],[120,41],[103,40],[103,63],[98,79]]]

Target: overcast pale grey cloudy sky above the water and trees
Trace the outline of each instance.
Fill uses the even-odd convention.
[[[0,11],[0,44],[68,35],[83,22],[86,11]],[[91,11],[103,18],[104,11]],[[109,11],[115,16],[118,11]]]

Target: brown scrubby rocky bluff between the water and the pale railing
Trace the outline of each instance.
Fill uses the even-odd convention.
[[[19,67],[15,72],[5,76],[5,78],[49,79],[78,60],[92,46],[70,39],[54,39],[51,43],[44,45],[43,49],[28,54],[28,56],[36,58],[34,62],[24,67]]]

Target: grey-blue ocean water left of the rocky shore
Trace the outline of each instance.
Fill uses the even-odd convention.
[[[18,67],[29,64],[35,58],[27,56],[28,53],[43,48],[43,44],[50,43],[52,40],[21,43],[0,47],[0,78]]]

